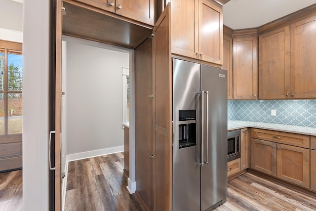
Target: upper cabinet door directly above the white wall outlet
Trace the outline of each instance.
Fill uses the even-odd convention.
[[[290,98],[290,27],[259,36],[259,99]]]

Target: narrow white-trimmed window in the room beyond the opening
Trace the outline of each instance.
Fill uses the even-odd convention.
[[[122,102],[123,102],[123,124],[129,123],[129,69],[122,68],[122,85],[123,85],[123,93],[122,93]]]

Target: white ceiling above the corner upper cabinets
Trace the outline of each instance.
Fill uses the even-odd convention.
[[[316,0],[230,0],[223,6],[223,22],[234,30],[259,27],[315,3]]]

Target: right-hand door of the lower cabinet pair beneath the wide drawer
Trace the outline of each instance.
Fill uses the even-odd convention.
[[[310,188],[310,150],[276,144],[276,176],[294,184]]]

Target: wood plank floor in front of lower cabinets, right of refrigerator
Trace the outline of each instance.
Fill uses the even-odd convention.
[[[250,173],[228,182],[228,197],[215,211],[315,211],[316,198]]]

